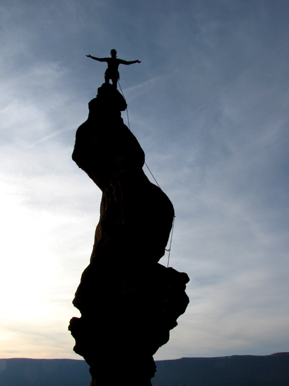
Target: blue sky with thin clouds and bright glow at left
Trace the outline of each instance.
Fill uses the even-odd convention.
[[[0,358],[81,359],[67,327],[101,192],[71,154],[106,68],[85,55],[112,48],[141,60],[119,82],[190,277],[155,359],[289,351],[288,17],[286,0],[0,0]]]

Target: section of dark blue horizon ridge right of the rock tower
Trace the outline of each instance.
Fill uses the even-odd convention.
[[[289,353],[157,362],[154,386],[288,386]]]

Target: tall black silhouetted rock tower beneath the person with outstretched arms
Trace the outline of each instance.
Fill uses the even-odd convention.
[[[142,171],[145,154],[123,124],[125,108],[122,95],[103,84],[72,155],[102,190],[90,264],[73,301],[81,318],[69,325],[74,351],[90,365],[91,385],[151,384],[153,355],[189,303],[187,274],[158,263],[174,208]],[[111,357],[117,358],[113,368]]]

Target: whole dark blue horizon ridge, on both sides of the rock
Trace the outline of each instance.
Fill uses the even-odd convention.
[[[289,352],[181,358],[156,364],[153,386],[289,385]],[[84,360],[0,359],[0,386],[89,386],[90,380]]]

